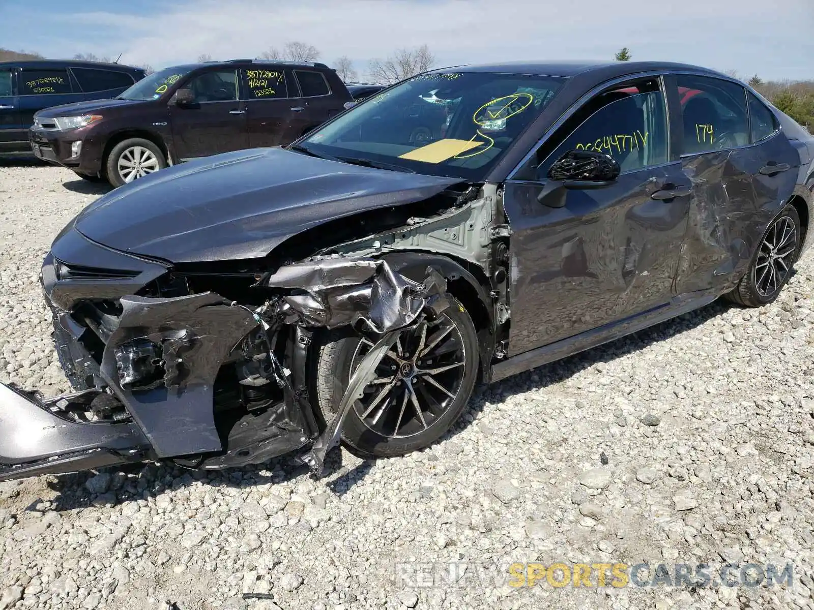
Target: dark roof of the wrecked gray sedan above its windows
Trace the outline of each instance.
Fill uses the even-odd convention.
[[[599,62],[599,61],[518,61],[504,63],[479,63],[466,64],[460,66],[449,66],[449,68],[437,68],[430,72],[508,72],[515,74],[532,74],[539,76],[562,76],[570,78],[585,72],[596,72],[596,76],[622,76],[635,72],[650,71],[692,71],[706,72],[711,75],[723,76],[719,72],[708,68],[700,68],[689,63],[674,62]]]

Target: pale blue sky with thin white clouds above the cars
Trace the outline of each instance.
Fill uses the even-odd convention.
[[[440,66],[514,59],[697,63],[814,79],[814,0],[0,0],[0,46],[163,68],[305,41],[332,63],[424,43]]]

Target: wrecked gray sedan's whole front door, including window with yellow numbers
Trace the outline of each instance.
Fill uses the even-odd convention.
[[[615,85],[506,182],[510,355],[670,301],[690,188],[667,133],[660,79]],[[546,176],[568,150],[604,152],[621,174],[597,188],[555,188]]]

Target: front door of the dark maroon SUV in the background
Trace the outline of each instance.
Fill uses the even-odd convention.
[[[178,159],[248,148],[245,103],[239,100],[236,70],[212,70],[182,85],[193,102],[171,106],[169,115]]]

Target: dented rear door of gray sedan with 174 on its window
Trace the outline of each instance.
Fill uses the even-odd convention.
[[[742,85],[692,74],[671,81],[679,106],[673,131],[693,184],[677,290],[729,290],[794,190],[799,154]]]

